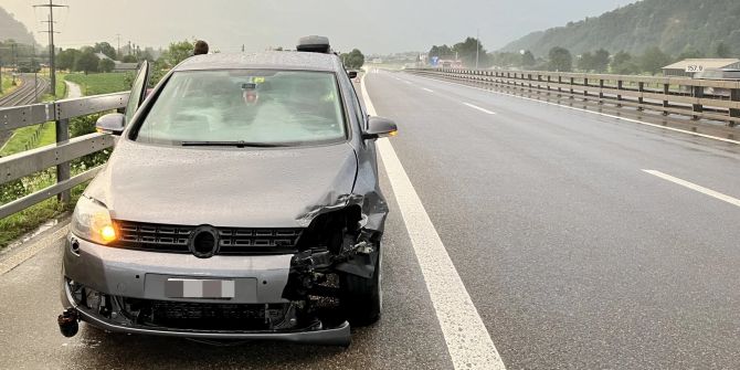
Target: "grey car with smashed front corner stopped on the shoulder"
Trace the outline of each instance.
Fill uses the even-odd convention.
[[[349,346],[379,319],[374,141],[397,127],[310,50],[193,56],[149,94],[145,63],[126,113],[97,123],[119,138],[73,214],[65,336]]]

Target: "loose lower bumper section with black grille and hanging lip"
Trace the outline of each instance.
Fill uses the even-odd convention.
[[[77,320],[114,332],[201,340],[277,340],[349,347],[347,321],[326,326],[302,317],[296,304],[234,305],[133,299],[64,283],[68,307],[60,315],[62,334],[74,336]],[[74,332],[73,332],[74,331]]]

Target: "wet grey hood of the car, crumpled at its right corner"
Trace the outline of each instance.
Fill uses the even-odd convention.
[[[347,203],[357,175],[348,144],[239,149],[125,139],[85,191],[117,220],[231,228],[305,228]]]

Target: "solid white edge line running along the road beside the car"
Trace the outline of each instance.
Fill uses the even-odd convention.
[[[364,76],[360,84],[364,107],[374,116]],[[380,139],[378,151],[393,187],[453,366],[455,369],[506,369],[393,146],[388,139]]]

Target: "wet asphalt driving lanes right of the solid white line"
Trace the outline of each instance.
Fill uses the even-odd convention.
[[[409,74],[367,84],[508,368],[740,363],[740,208],[642,171],[740,198],[737,145]]]

